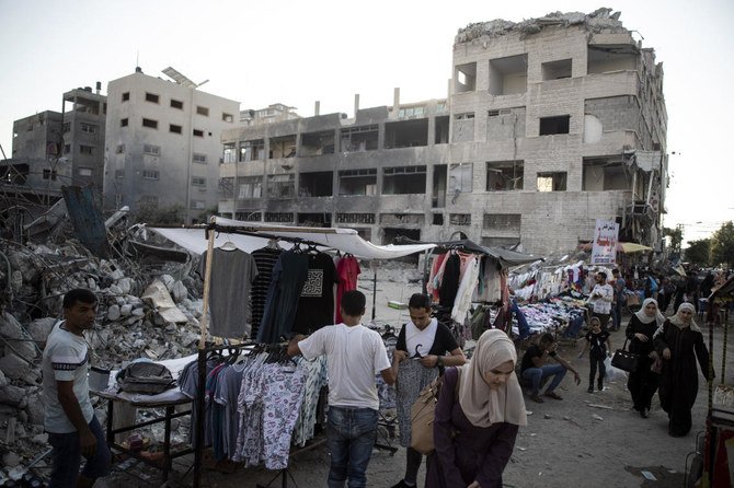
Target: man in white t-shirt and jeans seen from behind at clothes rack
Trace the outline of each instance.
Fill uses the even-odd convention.
[[[329,488],[367,486],[367,465],[377,439],[379,398],[376,374],[394,383],[380,335],[362,325],[366,299],[352,290],[341,302],[342,324],[320,328],[308,338],[296,335],[288,355],[308,360],[325,355],[329,365],[326,442],[331,451]],[[302,339],[302,340],[301,340]]]

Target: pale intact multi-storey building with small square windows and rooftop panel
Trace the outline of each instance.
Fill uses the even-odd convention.
[[[176,81],[138,68],[107,85],[105,208],[179,209],[186,222],[200,221],[216,211],[220,137],[240,105],[165,72]]]

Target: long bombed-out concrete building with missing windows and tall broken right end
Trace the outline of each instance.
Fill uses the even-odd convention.
[[[619,13],[459,31],[447,98],[226,130],[219,213],[551,254],[593,237],[660,247],[663,68]]]

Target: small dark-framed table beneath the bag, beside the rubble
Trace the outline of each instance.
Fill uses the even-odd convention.
[[[190,397],[181,393],[177,388],[169,390],[159,395],[129,394],[123,392],[114,392],[111,390],[105,390],[102,392],[91,392],[91,393],[107,400],[106,437],[107,437],[107,445],[110,446],[110,449],[124,452],[129,456],[135,457],[136,460],[140,460],[150,466],[161,469],[163,472],[163,481],[168,480],[169,473],[171,472],[173,460],[175,457],[180,457],[194,452],[193,448],[179,449],[175,451],[171,450],[171,420],[177,417],[191,415],[192,413],[191,409],[186,411],[177,411],[177,413],[175,411],[176,406],[191,405],[193,402]],[[165,414],[163,416],[156,417],[145,422],[136,423],[134,421],[133,425],[130,426],[113,428],[114,402],[123,402],[129,404],[133,407],[144,409],[164,408]],[[115,434],[117,433],[129,432],[140,427],[151,426],[160,422],[163,422],[164,425],[163,451],[162,451],[162,457],[160,458],[146,457],[142,455],[141,451],[134,451],[115,442]]]

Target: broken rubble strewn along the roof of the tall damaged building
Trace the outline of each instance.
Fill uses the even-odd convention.
[[[538,19],[528,19],[523,22],[509,22],[497,19],[490,22],[479,22],[469,24],[460,28],[454,39],[454,44],[470,43],[479,39],[482,36],[498,37],[511,32],[519,32],[520,35],[527,36],[539,33],[543,27],[560,25],[567,27],[569,25],[582,25],[588,32],[610,32],[623,33],[628,32],[622,26],[619,20],[621,12],[612,13],[611,9],[601,8],[596,11],[585,14],[582,12],[551,12],[546,16]]]

